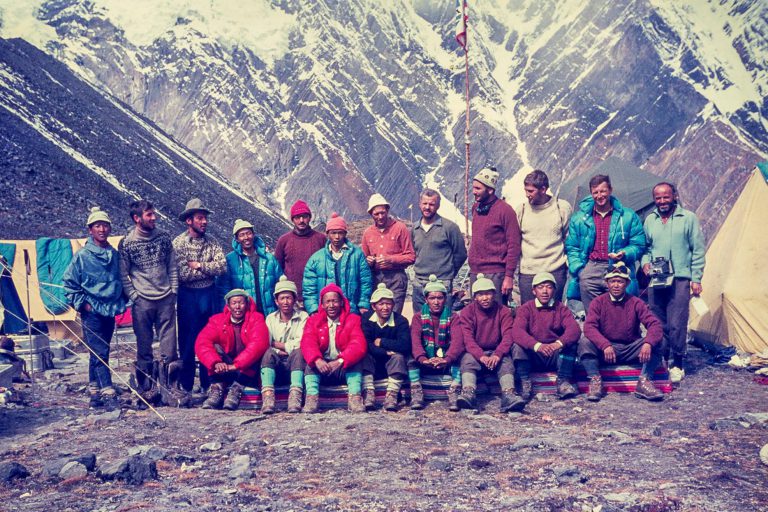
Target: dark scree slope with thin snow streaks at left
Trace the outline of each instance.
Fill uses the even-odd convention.
[[[236,218],[270,243],[286,229],[202,161],[119,100],[21,39],[0,40],[0,237],[82,237],[91,206],[130,226],[128,204],[150,199],[174,235],[186,201],[214,211],[210,231],[225,245]]]

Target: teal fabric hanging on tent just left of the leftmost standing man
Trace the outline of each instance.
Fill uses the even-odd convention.
[[[35,252],[40,298],[49,313],[60,315],[69,309],[62,282],[72,261],[72,243],[66,238],[40,238],[35,240]]]

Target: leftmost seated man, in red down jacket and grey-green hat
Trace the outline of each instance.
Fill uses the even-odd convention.
[[[224,311],[208,320],[195,341],[195,354],[211,382],[203,409],[219,409],[222,403],[237,409],[243,387],[258,385],[256,365],[269,348],[267,324],[248,292],[234,289],[224,300]]]

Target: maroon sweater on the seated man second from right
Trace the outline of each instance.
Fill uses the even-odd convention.
[[[536,343],[556,340],[567,347],[579,341],[581,328],[562,302],[555,302],[551,308],[537,308],[536,301],[530,300],[517,309],[512,337],[515,343],[531,350]]]

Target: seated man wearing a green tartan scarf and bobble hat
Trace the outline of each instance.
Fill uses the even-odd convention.
[[[458,411],[456,400],[461,390],[461,372],[456,364],[464,353],[458,317],[452,316],[446,307],[448,289],[435,274],[423,287],[426,303],[413,314],[411,322],[411,352],[413,359],[408,365],[411,381],[411,409],[424,408],[424,391],[421,372],[442,375],[446,371],[453,377],[448,388],[448,409]],[[451,326],[455,327],[451,330]],[[415,364],[414,364],[415,363]]]

